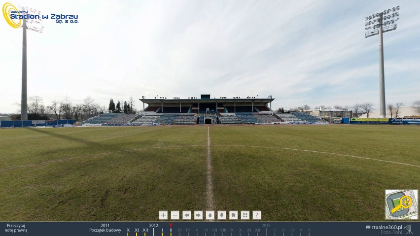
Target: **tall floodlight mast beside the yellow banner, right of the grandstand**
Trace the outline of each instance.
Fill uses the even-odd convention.
[[[384,40],[383,40],[383,33],[388,31],[393,31],[397,29],[397,24],[395,23],[399,18],[392,19],[391,21],[387,21],[384,23],[385,19],[390,19],[391,17],[398,17],[398,12],[395,12],[400,9],[400,6],[392,7],[392,9],[385,10],[381,13],[373,14],[372,16],[365,17],[365,30],[367,33],[365,34],[365,37],[370,37],[376,34],[379,34],[379,110],[380,110],[380,116],[381,118],[386,117],[386,109],[385,109],[385,68],[384,68]],[[389,14],[391,11],[395,12],[392,13],[392,15],[385,16],[385,14]],[[376,21],[376,17],[379,17],[379,19]],[[373,21],[367,22],[367,20],[373,19]],[[370,25],[375,24],[375,22],[378,22],[377,25],[373,26],[373,31],[371,30],[372,27]],[[384,27],[383,25],[389,25],[387,27]],[[369,27],[368,27],[369,26]],[[378,29],[379,28],[379,29]],[[378,29],[378,30],[376,30]]]

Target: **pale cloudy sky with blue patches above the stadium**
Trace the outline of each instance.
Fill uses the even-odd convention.
[[[386,103],[420,100],[413,0],[9,2],[78,16],[28,31],[28,96],[45,105],[210,94],[272,95],[273,109],[365,101],[379,109],[379,37],[364,37],[364,17],[396,5],[398,28],[384,34]],[[1,16],[0,32],[0,113],[11,113],[20,110],[22,29]]]

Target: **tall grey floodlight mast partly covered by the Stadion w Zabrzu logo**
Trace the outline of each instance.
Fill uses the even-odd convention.
[[[21,7],[22,11],[25,11],[25,7]],[[38,13],[32,8],[30,9],[31,13]],[[26,54],[26,30],[32,30],[38,33],[42,33],[42,26],[36,26],[41,24],[41,19],[38,20],[30,20],[30,25],[27,25],[26,19],[23,19],[23,24],[21,27],[23,28],[23,36],[22,36],[22,100],[21,100],[21,110],[20,110],[20,119],[21,120],[28,120],[28,83],[27,83],[27,54]]]

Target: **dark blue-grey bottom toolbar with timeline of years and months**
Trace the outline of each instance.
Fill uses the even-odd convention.
[[[393,236],[420,222],[1,222],[2,236]]]

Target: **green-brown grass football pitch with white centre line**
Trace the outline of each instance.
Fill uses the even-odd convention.
[[[0,129],[0,221],[206,210],[207,127]],[[418,126],[209,127],[213,210],[382,221],[385,189],[420,187]]]

